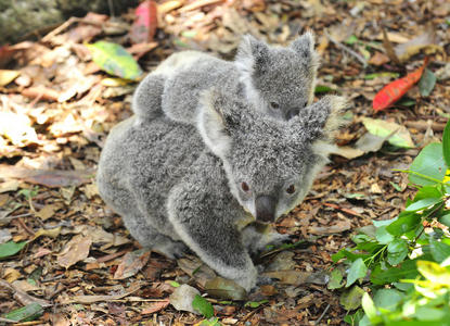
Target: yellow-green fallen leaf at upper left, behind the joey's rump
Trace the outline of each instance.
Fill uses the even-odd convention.
[[[98,41],[93,45],[86,43],[92,54],[92,60],[108,74],[125,79],[137,80],[142,75],[142,70],[130,53],[121,46]]]

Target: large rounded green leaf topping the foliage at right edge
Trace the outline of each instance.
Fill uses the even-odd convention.
[[[412,162],[409,179],[420,186],[436,185],[443,179],[447,168],[442,145],[433,142],[426,146]]]

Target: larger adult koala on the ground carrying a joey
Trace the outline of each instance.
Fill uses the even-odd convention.
[[[233,93],[210,90],[196,125],[164,116],[111,130],[98,171],[99,191],[143,246],[167,256],[190,248],[247,291],[257,281],[249,253],[299,204],[327,162],[342,98],[327,96],[282,121]]]

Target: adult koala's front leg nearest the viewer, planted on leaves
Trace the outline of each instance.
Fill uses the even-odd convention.
[[[216,203],[210,197],[198,200],[187,192],[178,189],[168,199],[175,230],[218,274],[249,291],[256,286],[257,269],[232,220],[224,215],[223,208],[210,205]]]

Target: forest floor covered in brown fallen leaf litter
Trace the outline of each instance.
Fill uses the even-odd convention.
[[[407,170],[422,147],[439,140],[450,116],[450,4],[195,0],[166,1],[158,11],[158,29],[146,42],[130,41],[130,9],[120,17],[72,20],[37,40],[0,48],[0,68],[16,73],[10,78],[0,71],[0,243],[25,243],[0,259],[0,316],[38,301],[44,313],[23,325],[204,319],[177,311],[168,298],[176,283],[204,293],[209,272],[198,273],[195,258],[177,262],[138,251],[120,217],[98,195],[94,174],[104,139],[131,115],[137,84],[101,72],[83,42],[123,45],[150,72],[176,51],[232,59],[243,34],[287,45],[312,29],[321,55],[317,98],[339,93],[351,108],[337,136],[338,152],[305,201],[277,223],[280,233],[306,241],[259,259],[280,281],[247,301],[206,298],[224,325],[344,325],[342,291],[329,290],[324,277],[333,269],[332,255],[351,246],[357,228],[393,218],[404,208],[414,189],[396,170]],[[383,41],[383,30],[389,41]],[[421,96],[415,86],[399,104],[376,113],[375,93],[421,66],[425,54],[437,76],[430,95]],[[374,121],[367,118],[397,124],[394,128],[413,145],[381,147],[386,139],[368,137]]]

